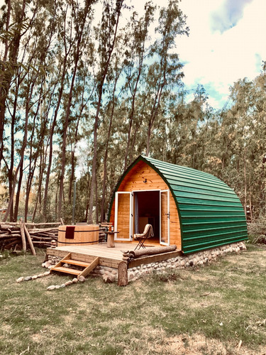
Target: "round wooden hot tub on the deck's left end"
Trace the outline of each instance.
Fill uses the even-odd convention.
[[[59,226],[57,246],[90,245],[99,243],[98,224]]]

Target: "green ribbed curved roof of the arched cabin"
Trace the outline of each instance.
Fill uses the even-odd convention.
[[[182,251],[192,253],[248,239],[243,206],[235,192],[214,175],[140,155],[167,183],[179,213]]]

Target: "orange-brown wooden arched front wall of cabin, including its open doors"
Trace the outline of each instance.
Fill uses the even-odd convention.
[[[140,160],[121,181],[111,204],[109,222],[117,241],[133,241],[145,224],[153,225],[154,240],[161,245],[175,244],[181,249],[177,205],[167,183],[144,161]]]

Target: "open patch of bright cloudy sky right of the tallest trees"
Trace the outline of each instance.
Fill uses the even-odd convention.
[[[211,107],[223,109],[229,87],[259,75],[266,60],[266,0],[182,0],[179,6],[190,28],[188,38],[177,39],[184,84],[202,84]]]

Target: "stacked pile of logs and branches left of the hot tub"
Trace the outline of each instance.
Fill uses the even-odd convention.
[[[0,222],[0,250],[31,249],[35,255],[35,246],[50,247],[57,241],[58,226],[61,223],[25,223],[21,219],[16,222]]]

